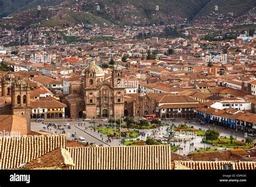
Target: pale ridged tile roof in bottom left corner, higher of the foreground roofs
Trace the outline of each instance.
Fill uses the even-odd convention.
[[[59,147],[66,147],[65,135],[0,137],[0,169],[18,168]]]

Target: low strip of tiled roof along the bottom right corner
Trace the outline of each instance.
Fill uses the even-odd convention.
[[[233,161],[179,161],[177,164],[181,164],[185,167],[194,169],[194,170],[222,170],[222,166],[225,164],[231,164],[233,170],[255,170],[256,162],[233,162]],[[175,166],[175,163],[174,163]]]

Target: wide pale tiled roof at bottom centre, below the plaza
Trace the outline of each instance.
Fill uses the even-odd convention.
[[[170,146],[67,148],[75,167],[83,170],[171,169]]]

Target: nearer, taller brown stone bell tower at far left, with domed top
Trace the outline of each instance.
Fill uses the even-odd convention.
[[[30,88],[21,77],[11,85],[11,106],[12,114],[26,118],[27,131],[30,131]]]

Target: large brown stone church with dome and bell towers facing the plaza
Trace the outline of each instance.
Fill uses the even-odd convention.
[[[68,105],[71,118],[123,117],[124,75],[117,66],[111,77],[106,77],[102,68],[90,63],[82,72],[80,84],[70,86],[70,94],[62,99]]]

